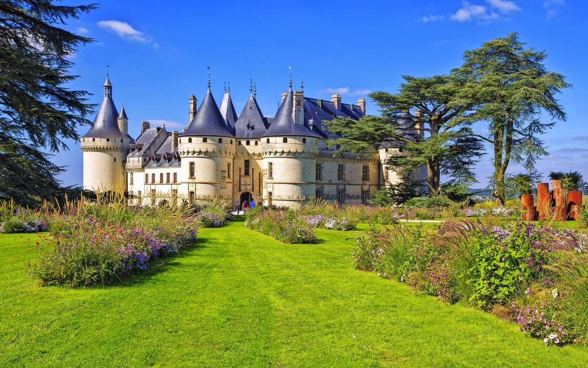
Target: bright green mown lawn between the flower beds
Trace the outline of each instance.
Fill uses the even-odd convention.
[[[363,228],[366,228],[363,226]],[[358,232],[288,245],[203,229],[196,246],[109,287],[38,287],[33,247],[0,236],[2,367],[568,367],[588,349],[546,347],[515,324],[416,296],[352,267]],[[34,242],[35,234],[23,236]]]

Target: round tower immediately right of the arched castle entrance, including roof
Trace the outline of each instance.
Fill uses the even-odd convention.
[[[298,208],[316,194],[319,138],[304,121],[302,91],[286,93],[268,131],[261,137],[265,205]]]

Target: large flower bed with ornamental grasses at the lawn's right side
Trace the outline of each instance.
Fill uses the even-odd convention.
[[[407,283],[445,303],[510,309],[520,330],[546,344],[588,335],[588,236],[532,224],[472,220],[370,230],[358,239],[356,268]]]

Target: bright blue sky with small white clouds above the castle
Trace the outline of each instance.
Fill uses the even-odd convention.
[[[80,4],[65,1],[65,4]],[[239,114],[257,84],[265,115],[274,115],[288,89],[304,78],[305,95],[343,102],[369,91],[395,92],[401,75],[426,77],[461,64],[464,51],[484,41],[520,32],[529,46],[549,54],[549,70],[574,85],[560,100],[568,120],[544,135],[549,157],[537,165],[549,171],[578,170],[588,177],[588,127],[583,107],[588,92],[586,39],[588,2],[570,0],[413,1],[109,1],[82,15],[68,29],[96,39],[71,60],[81,77],[71,88],[102,101],[106,65],[113,99],[125,105],[129,134],[141,121],[180,130],[188,124],[188,97],[206,93],[211,67],[218,104],[223,82]],[[376,114],[368,103],[368,113]],[[93,117],[91,117],[93,120]],[[483,131],[485,126],[475,127]],[[173,130],[168,129],[168,130]],[[79,128],[84,134],[87,127]],[[82,184],[82,152],[75,142],[52,159],[66,165],[66,185]],[[513,165],[512,172],[522,170]],[[476,168],[480,184],[492,173],[490,157]]]

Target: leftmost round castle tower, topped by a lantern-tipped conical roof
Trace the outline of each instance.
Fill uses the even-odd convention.
[[[126,190],[125,161],[129,144],[134,142],[127,127],[124,108],[119,115],[112,101],[112,85],[106,74],[104,100],[92,127],[80,139],[84,189]]]

